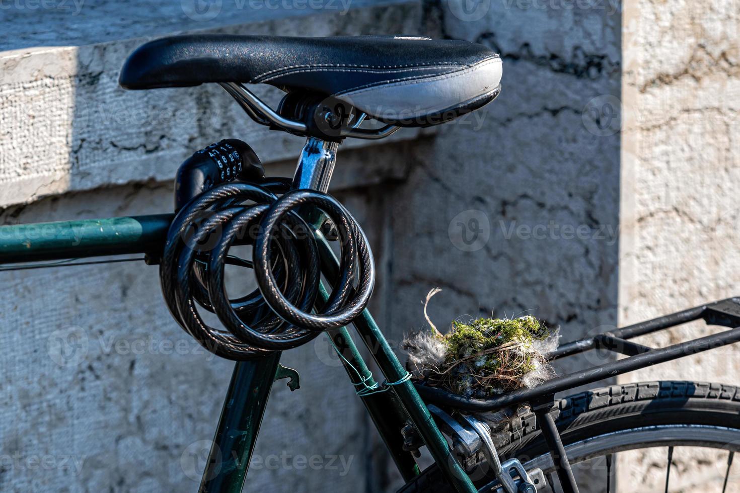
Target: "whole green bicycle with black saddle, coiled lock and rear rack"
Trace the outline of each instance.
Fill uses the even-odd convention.
[[[36,268],[46,265],[19,264],[144,254],[147,264],[160,266],[172,316],[207,350],[236,361],[201,492],[241,491],[273,381],[289,378],[292,390],[298,386],[295,370],[280,366],[281,351],[322,333],[406,480],[400,492],[536,493],[558,483],[577,492],[572,465],[601,457],[610,492],[613,455],[656,446],[668,448],[667,491],[673,447],[684,445],[728,452],[726,490],[740,448],[739,387],[663,381],[555,395],[740,341],[740,298],[560,344],[554,359],[595,349],[627,358],[488,399],[411,381],[366,310],[375,276],[370,248],[349,211],[326,193],[340,143],[454,120],[497,98],[501,75],[500,58],[486,47],[414,36],[201,34],[151,41],[129,56],[121,86],[220,84],[257,123],[306,137],[295,176],[265,177],[248,144],[222,140],[178,170],[175,214],[2,226],[0,262]],[[286,95],[272,109],[244,81]],[[363,126],[366,120],[380,126]],[[38,228],[47,234],[38,238]],[[251,245],[252,260],[229,255],[232,245]],[[252,268],[259,290],[229,299],[226,264]],[[199,308],[215,313],[223,327],[206,325]],[[699,319],[730,329],[664,348],[631,340]],[[383,383],[349,336],[350,324]],[[474,416],[522,404],[530,409],[494,429]],[[415,460],[422,446],[434,458],[424,471]]]

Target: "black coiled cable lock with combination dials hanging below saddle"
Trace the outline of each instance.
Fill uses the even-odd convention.
[[[264,356],[343,327],[364,310],[375,281],[372,253],[357,221],[334,197],[290,190],[285,178],[264,178],[252,149],[235,139],[195,153],[178,170],[177,183],[179,210],[167,233],[161,288],[172,316],[206,350],[235,361]],[[189,198],[183,188],[203,191]],[[317,304],[321,265],[314,226],[303,219],[316,210],[332,221],[341,250],[323,304]],[[251,262],[229,256],[235,244],[252,245]],[[252,268],[258,289],[229,299],[226,264]],[[215,313],[223,327],[206,324],[199,310]]]

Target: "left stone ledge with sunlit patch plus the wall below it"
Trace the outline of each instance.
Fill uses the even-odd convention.
[[[372,3],[354,1],[346,15],[221,16],[198,28],[293,35],[422,29],[420,2]],[[269,174],[292,174],[302,140],[258,127],[218,88],[118,89],[124,57],[146,40],[132,37],[192,29],[166,16],[156,22],[171,5],[137,11],[130,25],[113,21],[107,29],[101,19],[120,4],[96,8],[83,11],[96,21],[83,15],[72,30],[44,16],[61,34],[26,22],[24,35],[19,23],[28,17],[0,11],[4,27],[17,34],[13,46],[4,46],[16,51],[0,54],[1,222],[170,211],[169,180],[178,164],[223,137],[254,146]],[[69,46],[35,48],[48,34],[59,36],[55,45]],[[275,92],[257,92],[277,101]],[[390,140],[432,132],[403,131]],[[372,160],[365,151],[343,150],[332,191],[367,229],[374,250],[383,251],[384,184],[408,174],[411,149],[408,143],[374,149]],[[136,262],[2,275],[7,351],[0,365],[7,384],[0,488],[195,491],[232,364],[203,353],[175,324],[156,268]],[[385,279],[376,289],[387,289]],[[377,471],[374,452],[385,452],[329,344],[317,339],[286,353],[283,362],[299,370],[301,389],[275,385],[249,490],[383,489],[385,472]]]

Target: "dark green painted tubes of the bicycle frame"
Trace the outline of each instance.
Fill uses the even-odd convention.
[[[156,263],[172,217],[173,214],[158,214],[0,226],[0,264],[122,254],[146,254],[147,263]],[[326,239],[319,231],[315,234],[327,266],[325,275],[331,279],[332,269],[337,268],[337,260]],[[402,380],[406,369],[391,350],[369,311],[365,310],[353,324],[386,380]],[[344,356],[342,362],[353,384],[360,381],[356,370],[363,376],[369,375],[368,365],[346,328],[334,330],[328,335],[340,348]],[[235,364],[212,454],[203,474],[201,492],[241,491],[279,359],[280,353],[275,353],[266,358]],[[371,380],[366,382],[374,384]],[[477,491],[454,458],[411,381],[394,385],[388,392],[362,399],[406,480],[420,472],[411,452],[403,449],[404,438],[400,430],[406,424],[411,424],[450,483],[460,492]]]

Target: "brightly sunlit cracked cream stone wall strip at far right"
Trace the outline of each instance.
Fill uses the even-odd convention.
[[[625,7],[619,321],[639,322],[740,293],[740,2],[640,0]],[[703,323],[640,338],[665,346],[716,333]],[[736,384],[724,347],[620,381]],[[663,489],[665,449],[621,459],[620,478]],[[727,454],[677,448],[672,492],[721,491]],[[727,491],[740,489],[733,468]]]

